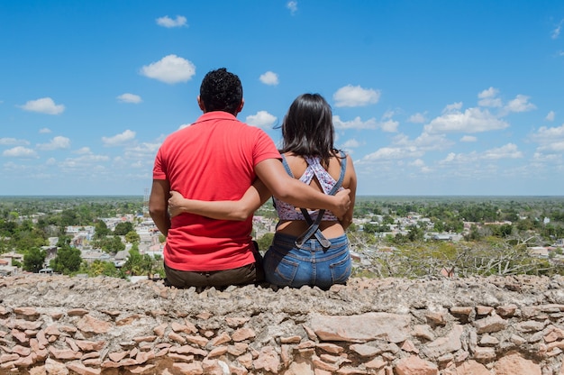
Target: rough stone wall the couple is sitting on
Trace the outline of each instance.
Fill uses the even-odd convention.
[[[564,375],[564,278],[0,278],[2,374]]]

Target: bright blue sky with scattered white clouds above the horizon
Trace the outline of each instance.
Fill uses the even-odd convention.
[[[221,67],[275,142],[323,95],[359,195],[564,195],[562,1],[0,0],[0,34],[0,196],[142,196]]]

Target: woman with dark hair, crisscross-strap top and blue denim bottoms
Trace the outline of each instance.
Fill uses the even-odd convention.
[[[330,288],[345,283],[351,270],[345,230],[352,223],[357,177],[350,156],[333,146],[331,106],[319,94],[298,96],[281,127],[280,153],[288,174],[325,194],[345,194],[347,190],[343,189],[348,189],[350,209],[338,218],[323,210],[297,209],[274,197],[279,222],[264,255],[266,279],[293,288]],[[267,188],[258,180],[239,201],[196,201],[171,192],[168,208],[173,216],[190,212],[215,219],[244,220],[268,197]]]

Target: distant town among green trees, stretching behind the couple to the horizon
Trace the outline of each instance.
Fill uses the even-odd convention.
[[[65,225],[64,233],[57,233],[55,218],[68,215],[72,216],[70,221],[81,220],[72,212],[85,210],[88,205],[93,212],[100,210],[92,203],[86,203],[86,198],[66,208],[57,208],[58,205],[51,202],[47,205],[51,207],[50,211],[38,204],[37,208],[44,211],[33,213],[29,212],[32,206],[29,202],[24,205],[24,211],[28,212],[18,212],[12,202],[12,206],[3,210],[4,217],[0,219],[0,275],[59,271],[129,279],[162,277],[166,238],[148,215],[146,199],[142,202],[138,198],[128,199],[137,200],[129,206],[120,203],[122,207],[115,209],[119,198],[114,198],[114,206],[104,205],[110,206],[115,215],[90,217],[86,219],[91,221],[89,224]],[[453,197],[358,199],[353,224],[347,232],[354,275],[418,277],[425,273],[444,276],[468,276],[480,272],[561,273],[564,265],[563,200],[559,197],[552,200],[498,200],[457,200]],[[554,205],[553,200],[558,204]],[[471,214],[461,212],[461,207],[482,211],[482,215],[466,220],[464,216]],[[127,209],[132,212],[124,212]],[[276,224],[274,209],[269,204],[254,215],[252,236],[259,242],[261,251],[268,248]],[[45,242],[37,246],[37,251],[32,251],[18,245],[12,237],[21,235],[18,226],[22,225],[30,227],[32,232],[40,227],[45,233],[56,235],[44,236]],[[64,264],[68,256],[60,259],[61,247],[69,254],[79,256],[79,261],[75,262],[77,266]],[[41,256],[44,259],[41,266],[30,270],[29,258],[37,258],[36,253],[40,254],[39,259]],[[472,269],[463,262],[479,264]],[[420,270],[422,267],[424,270]]]

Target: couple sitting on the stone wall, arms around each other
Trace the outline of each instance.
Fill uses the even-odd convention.
[[[241,81],[226,69],[200,87],[196,123],[172,133],[153,168],[150,215],[167,236],[167,282],[177,288],[259,283],[329,288],[350,276],[345,229],[356,174],[333,146],[331,106],[298,96],[282,123],[283,144],[237,120]],[[280,162],[280,160],[282,162]],[[273,197],[279,222],[262,259],[252,215]],[[296,208],[296,207],[308,207]]]

